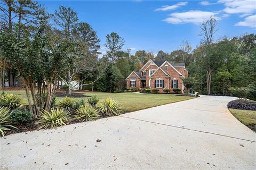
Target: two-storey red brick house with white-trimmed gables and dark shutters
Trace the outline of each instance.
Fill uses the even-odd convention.
[[[182,78],[187,76],[188,71],[184,63],[171,64],[167,61],[149,60],[139,72],[133,71],[126,78],[126,88],[158,89],[160,93],[163,93],[164,89],[170,89],[170,93],[175,93],[172,89],[179,88],[182,94],[185,89]]]

